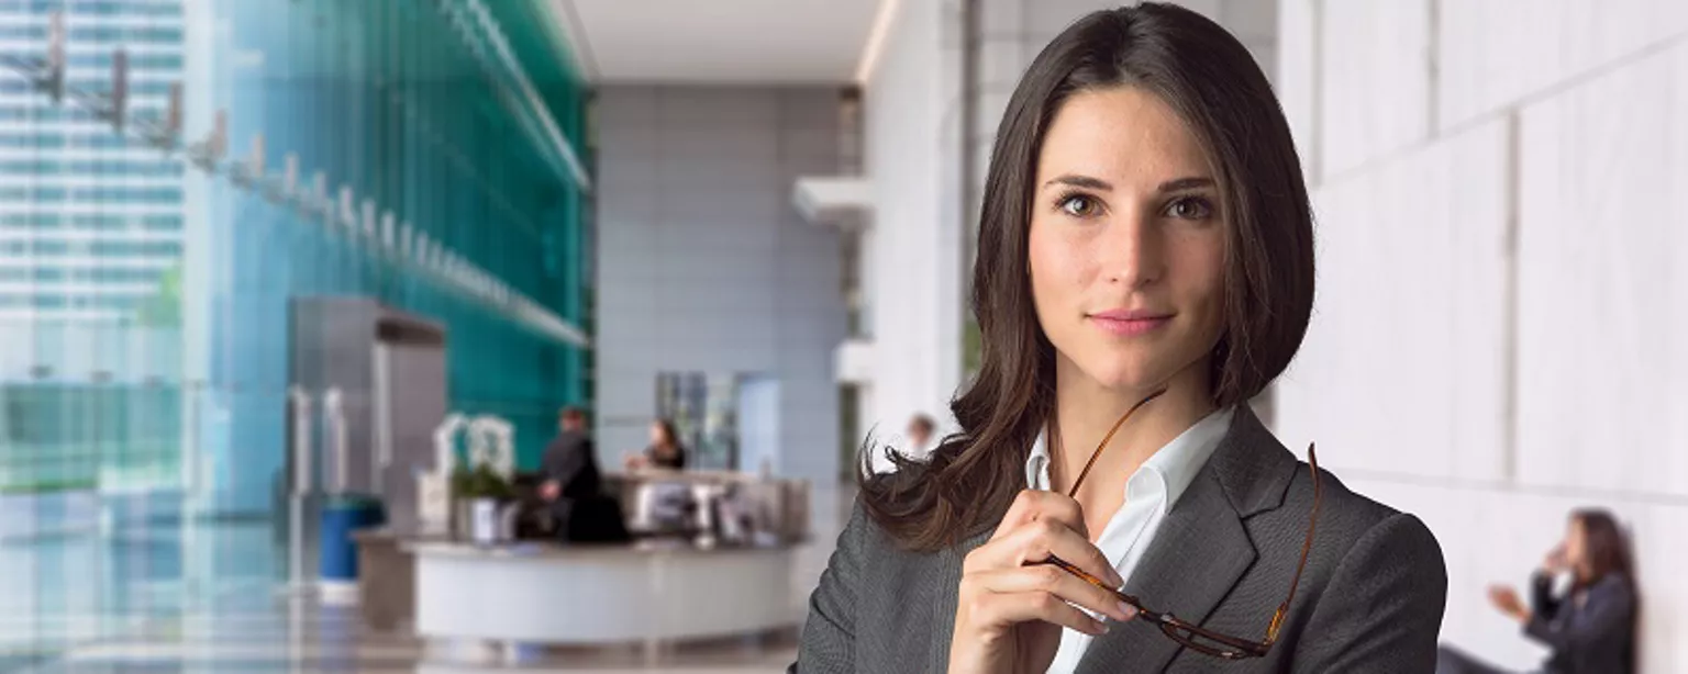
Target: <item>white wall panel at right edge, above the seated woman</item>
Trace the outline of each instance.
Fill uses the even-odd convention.
[[[1688,40],[1523,108],[1519,480],[1688,497],[1685,103]]]

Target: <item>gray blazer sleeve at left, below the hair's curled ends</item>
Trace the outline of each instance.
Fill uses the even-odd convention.
[[[861,504],[839,534],[820,583],[809,595],[809,622],[797,645],[797,662],[787,674],[832,674],[856,671],[856,590],[863,578],[866,529],[871,524]]]

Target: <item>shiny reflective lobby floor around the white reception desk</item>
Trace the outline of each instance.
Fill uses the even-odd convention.
[[[830,554],[844,504],[817,499],[814,543],[793,576],[798,596]],[[25,522],[34,536],[0,538],[0,674],[783,672],[797,652],[792,629],[675,644],[653,659],[628,645],[530,652],[501,666],[478,644],[425,645],[408,630],[365,629],[354,608],[290,598],[285,536],[267,521],[61,531],[39,512]]]

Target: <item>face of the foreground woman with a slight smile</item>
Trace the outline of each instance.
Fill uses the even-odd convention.
[[[1028,243],[1058,376],[1146,393],[1185,374],[1205,389],[1224,325],[1214,180],[1195,135],[1155,94],[1121,86],[1062,104],[1038,155]]]

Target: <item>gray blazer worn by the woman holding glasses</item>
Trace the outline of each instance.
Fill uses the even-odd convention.
[[[1313,549],[1266,657],[1219,661],[1133,620],[1096,637],[1079,672],[1433,672],[1448,586],[1442,548],[1416,517],[1347,490],[1330,473],[1320,482]],[[1202,627],[1264,639],[1290,591],[1312,506],[1307,463],[1241,406],[1126,591]],[[962,558],[989,536],[910,553],[858,504],[809,598],[790,671],[945,671]]]

